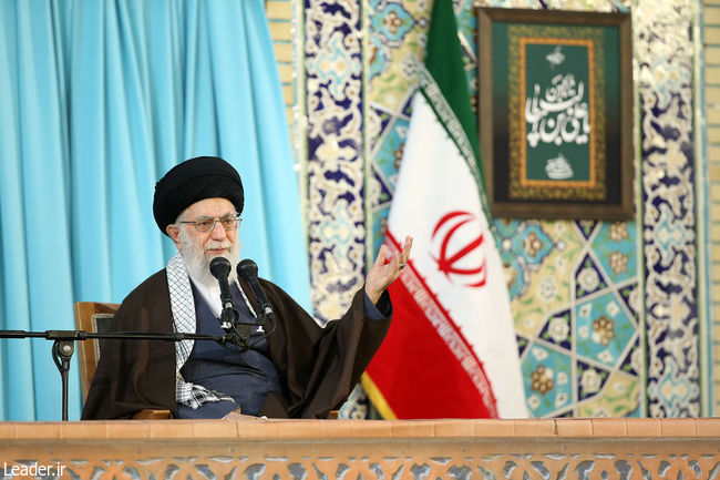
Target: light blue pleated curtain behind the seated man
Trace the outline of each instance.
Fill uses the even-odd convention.
[[[72,329],[163,268],[155,182],[197,155],[240,172],[243,256],[310,305],[263,0],[0,0],[0,31],[1,329]],[[60,419],[51,346],[0,339],[0,419]]]

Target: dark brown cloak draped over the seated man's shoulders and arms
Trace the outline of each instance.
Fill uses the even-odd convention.
[[[322,328],[288,294],[260,278],[272,305],[277,328],[267,338],[269,354],[282,382],[270,392],[260,415],[275,418],[327,418],[359,381],[390,327],[372,320],[364,309],[364,289],[348,312]],[[240,280],[253,308],[259,307]],[[389,294],[381,303],[389,305]],[[173,331],[165,269],[135,288],[113,319],[116,331]],[[166,409],[177,418],[175,344],[163,340],[105,340],[82,412],[83,420],[132,418],[143,409]]]

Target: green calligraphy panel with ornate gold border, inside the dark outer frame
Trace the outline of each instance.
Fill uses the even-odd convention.
[[[605,57],[600,30],[508,27],[507,195],[605,198]],[[500,95],[498,95],[500,98]]]

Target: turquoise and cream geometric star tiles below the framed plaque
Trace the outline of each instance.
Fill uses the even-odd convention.
[[[513,255],[523,259],[518,265],[534,266],[525,268],[525,292],[511,289],[517,331],[528,344],[521,360],[532,415],[638,415],[642,369],[632,224],[597,222],[588,231],[573,222],[558,236],[541,226],[557,231],[568,223],[518,224],[534,228],[506,232],[501,244],[513,238],[524,245]]]

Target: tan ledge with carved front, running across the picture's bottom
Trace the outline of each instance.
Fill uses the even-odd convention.
[[[720,419],[0,422],[0,478],[41,468],[66,479],[720,479]]]

